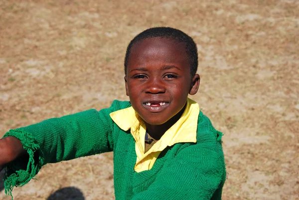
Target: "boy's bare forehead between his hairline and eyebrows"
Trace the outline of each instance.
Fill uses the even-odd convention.
[[[167,63],[188,62],[184,43],[172,38],[154,37],[138,41],[132,46],[128,66],[153,61]]]

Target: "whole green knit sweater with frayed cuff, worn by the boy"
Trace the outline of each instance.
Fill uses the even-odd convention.
[[[152,169],[137,173],[135,141],[120,129],[111,112],[130,107],[115,100],[110,108],[87,110],[7,132],[29,154],[5,168],[5,193],[30,181],[47,163],[114,152],[116,200],[221,200],[226,171],[221,132],[199,113],[197,142],[178,143],[161,152]],[[26,159],[26,160],[24,160]]]

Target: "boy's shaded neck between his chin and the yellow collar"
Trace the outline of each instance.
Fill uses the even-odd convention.
[[[167,122],[165,122],[164,124],[160,124],[160,125],[152,125],[152,124],[148,124],[146,122],[146,126],[147,126],[147,132],[148,134],[155,140],[159,140],[164,133],[173,125],[177,122],[177,120],[179,120],[179,118],[182,116],[184,110],[186,108],[186,105],[176,114],[174,115],[171,119],[169,119]]]

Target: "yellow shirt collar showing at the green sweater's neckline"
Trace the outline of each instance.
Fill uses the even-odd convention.
[[[199,105],[188,98],[186,108],[177,122],[170,127],[147,153],[145,153],[145,136],[147,127],[144,120],[135,112],[133,107],[110,113],[112,120],[124,131],[131,129],[136,144],[137,155],[134,170],[142,172],[150,170],[161,151],[167,146],[182,142],[196,142],[197,120]]]

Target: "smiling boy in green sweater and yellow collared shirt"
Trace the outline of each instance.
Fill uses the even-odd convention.
[[[5,192],[47,163],[113,151],[116,200],[221,200],[222,134],[188,98],[200,82],[197,59],[196,44],[180,30],[137,35],[125,57],[130,102],[7,132],[0,140],[0,167],[9,163]]]

